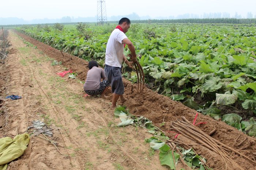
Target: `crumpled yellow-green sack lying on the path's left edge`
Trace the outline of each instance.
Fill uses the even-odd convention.
[[[5,170],[7,163],[23,155],[29,139],[29,134],[16,135],[14,139],[9,137],[0,139],[0,170]]]

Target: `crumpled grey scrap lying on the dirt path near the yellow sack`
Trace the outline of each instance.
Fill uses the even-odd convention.
[[[32,122],[33,125],[28,127],[27,129],[34,128],[32,136],[37,136],[40,134],[44,134],[46,136],[52,137],[52,129],[48,128],[47,125],[41,120],[35,120]]]

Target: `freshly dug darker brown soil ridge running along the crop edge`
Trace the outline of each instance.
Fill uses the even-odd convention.
[[[58,61],[62,61],[62,64],[78,73],[78,78],[80,80],[85,80],[86,73],[88,71],[87,62],[83,59],[78,57],[71,56],[67,53],[64,53],[64,57],[61,52],[53,47],[45,45],[44,43],[38,42],[37,40],[30,38],[24,34],[16,32],[18,35],[22,36],[25,40],[33,43],[38,49],[44,51],[46,55],[51,58],[54,58]],[[185,116],[187,120],[193,122],[195,118],[196,111],[186,107],[185,105],[181,104],[180,102],[173,101],[169,97],[162,96],[156,92],[153,92],[150,89],[144,89],[142,92],[137,92],[137,85],[133,85],[128,80],[123,79],[124,86],[125,86],[125,94],[124,96],[128,98],[128,101],[124,103],[129,109],[129,112],[134,115],[144,116],[150,119],[154,124],[160,125],[161,123],[165,122],[165,125],[161,127],[163,131],[166,132],[166,135],[169,138],[174,138],[176,134],[169,133],[170,131],[170,123],[172,121],[176,121],[181,119],[181,116]],[[111,100],[110,97],[106,100]],[[242,142],[245,138],[248,140],[255,141],[254,138],[251,138],[242,132],[238,131],[237,129],[225,124],[222,121],[217,121],[212,119],[209,116],[204,116],[199,113],[199,116],[196,120],[197,123],[199,122],[207,122],[207,124],[200,124],[198,127],[205,133],[209,133],[210,131],[217,128],[217,131],[212,138],[219,140],[220,142],[226,144],[229,147],[233,147],[239,149],[237,143]],[[237,137],[240,136],[238,139]],[[184,138],[184,136],[179,135],[178,139],[185,143],[195,143],[195,141],[189,140]],[[242,144],[245,145],[246,143]],[[241,146],[240,146],[241,147]],[[207,159],[208,164],[216,169],[225,169],[226,163],[223,159],[220,158],[218,154],[215,152],[209,151],[203,145],[194,146],[195,150],[198,154],[201,154],[203,157]],[[256,155],[253,153],[256,150],[255,144],[245,148],[243,153],[251,159],[256,159]],[[245,158],[242,158],[234,153],[229,153],[231,157],[236,162],[239,162],[240,166],[244,169],[254,169],[255,164],[251,161],[248,161]],[[230,167],[231,169],[238,169],[238,167]]]

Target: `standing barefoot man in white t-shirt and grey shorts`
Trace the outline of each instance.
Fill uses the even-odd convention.
[[[111,84],[112,88],[112,104],[111,109],[116,108],[116,102],[120,97],[120,102],[124,102],[127,99],[124,97],[124,84],[122,80],[121,66],[124,61],[130,68],[133,68],[133,62],[137,60],[135,48],[132,42],[124,34],[130,28],[131,21],[128,18],[120,19],[118,26],[111,33],[107,47],[105,58],[105,74]],[[132,53],[131,62],[129,62],[124,56],[125,44],[128,46]]]

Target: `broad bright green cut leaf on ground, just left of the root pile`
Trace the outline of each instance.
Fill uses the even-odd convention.
[[[177,164],[177,161],[180,155],[174,152],[173,153],[174,160],[173,160],[172,150],[167,144],[164,144],[161,148],[159,148],[159,150],[160,150],[159,159],[160,159],[161,165],[167,165],[170,167],[170,169],[175,169],[174,160],[175,160],[175,163]]]

